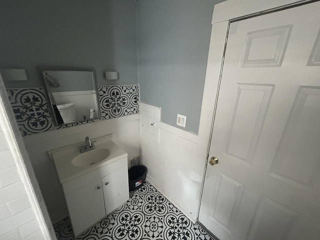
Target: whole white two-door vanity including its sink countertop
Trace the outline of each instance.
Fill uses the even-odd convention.
[[[110,134],[92,138],[91,142],[95,148],[85,152],[79,150],[84,142],[48,151],[75,236],[129,199],[128,154]]]

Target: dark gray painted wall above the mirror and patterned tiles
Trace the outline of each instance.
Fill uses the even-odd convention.
[[[99,85],[136,84],[136,12],[128,0],[1,0],[0,68],[25,68],[40,87],[40,69],[95,69]],[[104,80],[116,70],[119,79]]]

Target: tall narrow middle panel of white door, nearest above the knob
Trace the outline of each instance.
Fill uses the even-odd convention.
[[[273,85],[236,83],[235,87],[226,152],[251,164]]]

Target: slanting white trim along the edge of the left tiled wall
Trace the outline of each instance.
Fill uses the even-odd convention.
[[[52,223],[36,181],[31,162],[25,150],[11,104],[0,76],[0,124],[9,140],[9,149],[16,163],[26,194],[45,240],[56,239]]]

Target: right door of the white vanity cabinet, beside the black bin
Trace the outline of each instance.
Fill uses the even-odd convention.
[[[121,169],[102,178],[106,214],[129,199],[128,169]]]

